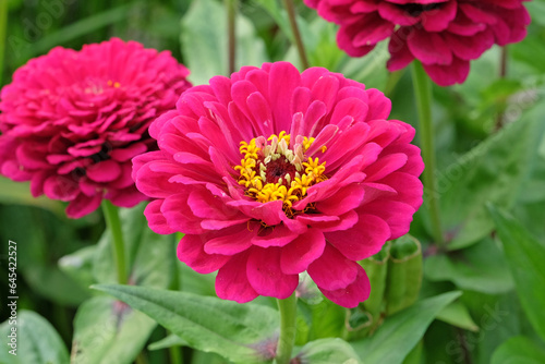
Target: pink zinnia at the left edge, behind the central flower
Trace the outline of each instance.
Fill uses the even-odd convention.
[[[169,52],[120,39],[31,60],[0,94],[0,173],[70,202],[72,218],[102,198],[134,206],[146,196],[131,158],[157,149],[147,129],[191,86],[187,74]]]

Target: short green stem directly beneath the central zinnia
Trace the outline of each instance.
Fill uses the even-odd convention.
[[[277,300],[277,302],[280,311],[280,338],[278,338],[276,349],[276,364],[289,364],[295,342],[298,299],[293,293],[286,300]]]

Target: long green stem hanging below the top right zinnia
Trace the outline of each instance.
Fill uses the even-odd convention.
[[[439,215],[439,196],[436,181],[436,161],[434,147],[434,128],[432,123],[432,84],[422,64],[419,61],[412,63],[412,76],[416,108],[420,116],[420,143],[422,159],[426,168],[423,172],[424,198],[429,210],[432,221],[432,234],[439,248],[445,248],[443,229]]]

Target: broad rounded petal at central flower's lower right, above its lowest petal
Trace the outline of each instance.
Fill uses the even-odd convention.
[[[326,233],[327,241],[351,260],[362,260],[380,252],[389,238],[390,228],[386,221],[364,214],[351,229]]]

